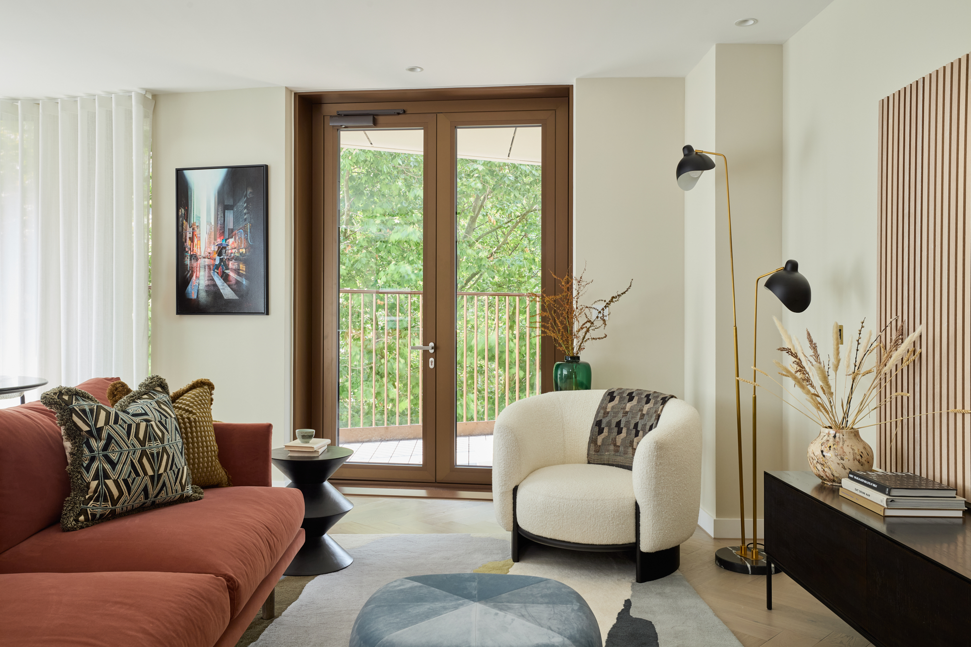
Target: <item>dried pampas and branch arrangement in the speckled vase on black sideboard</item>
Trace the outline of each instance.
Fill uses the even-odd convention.
[[[773,319],[786,344],[778,350],[789,359],[788,365],[778,359],[773,360],[773,363],[779,368],[779,375],[791,380],[802,393],[802,398],[788,391],[783,384],[765,371],[755,366],[753,369],[792,395],[797,404],[784,401],[819,426],[832,429],[858,429],[883,425],[884,423],[873,423],[858,426],[868,415],[888,402],[900,397],[910,397],[910,393],[905,392],[892,392],[888,395],[884,393],[887,392],[887,387],[892,380],[921,356],[921,351],[914,348],[914,344],[921,336],[922,325],[904,337],[903,323],[898,323],[895,329],[892,327],[896,321],[894,318],[874,339],[870,330],[866,332],[865,337],[863,336],[863,322],[860,322],[855,342],[846,345],[846,353],[841,358],[839,323],[833,323],[833,355],[831,358],[823,359],[809,330],[806,330],[806,343],[810,351],[807,353],[799,340],[792,338],[778,319],[775,317]],[[749,380],[739,378],[739,381],[765,389],[763,385]],[[780,397],[775,392],[772,394]],[[971,413],[966,409],[947,411],[948,413]],[[893,423],[932,413],[944,412],[932,411],[884,422]]]

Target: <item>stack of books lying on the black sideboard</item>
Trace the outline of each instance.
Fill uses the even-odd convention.
[[[910,472],[850,472],[840,496],[884,517],[960,517],[954,488]]]

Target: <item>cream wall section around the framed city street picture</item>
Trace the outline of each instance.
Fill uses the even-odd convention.
[[[263,87],[155,95],[151,370],[173,390],[216,384],[213,415],[290,428],[292,92]],[[270,314],[177,316],[175,169],[269,164]],[[283,478],[278,476],[276,478]]]

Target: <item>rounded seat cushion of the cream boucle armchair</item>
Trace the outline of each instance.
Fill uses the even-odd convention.
[[[634,479],[629,469],[565,464],[532,472],[516,494],[519,528],[578,544],[636,540]]]

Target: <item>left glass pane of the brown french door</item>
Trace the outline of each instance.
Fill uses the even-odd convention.
[[[342,130],[338,444],[421,464],[423,131]]]

